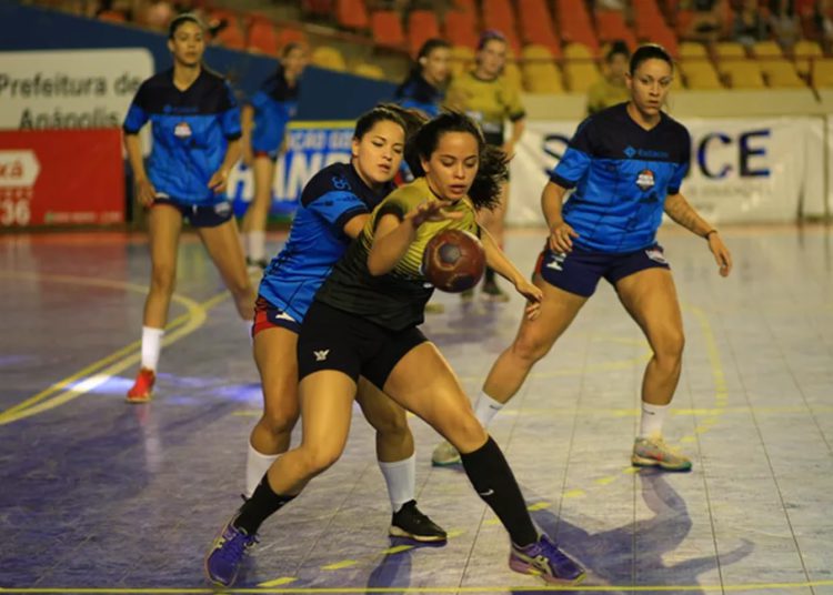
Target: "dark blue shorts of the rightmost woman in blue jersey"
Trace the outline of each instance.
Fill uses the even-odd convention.
[[[550,285],[590,298],[604,278],[611,285],[645,269],[671,269],[662,246],[653,244],[635,252],[610,254],[573,248],[566,254],[544,249],[535,263],[535,273]]]

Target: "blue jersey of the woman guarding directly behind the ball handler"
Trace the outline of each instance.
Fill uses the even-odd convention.
[[[370,213],[392,190],[393,184],[387,184],[374,192],[348,163],[317,173],[301,193],[289,240],[267,268],[260,295],[303,321],[315,292],[350,244],[344,224]]]

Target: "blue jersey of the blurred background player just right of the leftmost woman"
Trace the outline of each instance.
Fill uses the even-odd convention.
[[[278,155],[287,124],[298,112],[298,84],[290,87],[283,69],[269,77],[252,97],[254,130],[252,150]]]

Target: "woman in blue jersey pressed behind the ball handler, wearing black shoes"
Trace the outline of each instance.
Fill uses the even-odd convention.
[[[268,266],[255,306],[254,361],[264,404],[249,440],[247,496],[287,452],[298,421],[295,349],[307,309],[369,213],[393,190],[408,131],[421,122],[397,105],[370,110],[357,121],[352,160],[324,168],[303,189],[287,245]],[[377,430],[379,466],[391,498],[391,535],[444,541],[445,532],[414,502],[416,460],[404,410],[371,384],[361,384],[359,403]]]

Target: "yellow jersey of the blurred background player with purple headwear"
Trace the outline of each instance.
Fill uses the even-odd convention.
[[[503,144],[503,123],[526,115],[521,90],[505,77],[486,80],[464,72],[452,79],[445,98],[449,108],[464,111],[480,123],[489,144]]]

